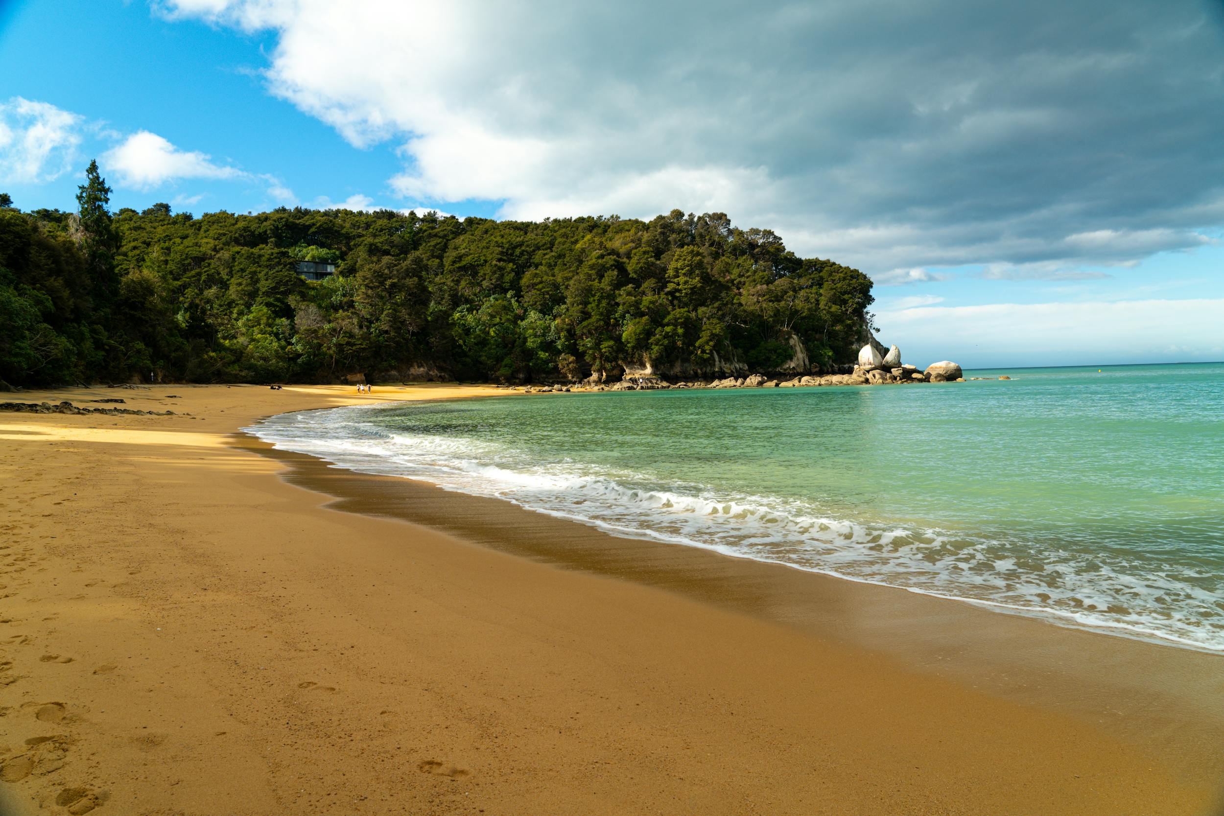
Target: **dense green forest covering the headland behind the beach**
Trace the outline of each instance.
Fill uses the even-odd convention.
[[[76,212],[0,193],[0,379],[619,378],[849,362],[871,281],[769,230],[672,210],[531,221],[280,208]],[[334,263],[308,281],[296,262]],[[798,343],[796,343],[796,340]]]

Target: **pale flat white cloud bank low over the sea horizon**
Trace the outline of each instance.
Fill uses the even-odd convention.
[[[1219,360],[1224,299],[891,307],[876,313],[883,343],[907,361],[965,366]]]

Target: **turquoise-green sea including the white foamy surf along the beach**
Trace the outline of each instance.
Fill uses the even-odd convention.
[[[509,396],[253,431],[368,472],[1056,623],[1224,651],[1224,365]]]

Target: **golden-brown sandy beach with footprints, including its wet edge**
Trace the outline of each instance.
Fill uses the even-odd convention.
[[[9,807],[1212,806],[1220,658],[612,540],[236,433],[280,411],[487,393],[7,396],[195,415],[0,414]]]

